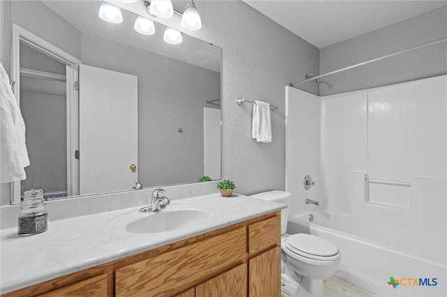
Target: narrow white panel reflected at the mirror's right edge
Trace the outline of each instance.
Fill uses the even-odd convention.
[[[221,178],[221,109],[203,107],[203,174]]]

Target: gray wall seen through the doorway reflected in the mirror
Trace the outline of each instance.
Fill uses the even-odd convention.
[[[26,88],[27,79],[22,82],[25,86],[22,85],[21,90]],[[47,91],[51,92],[54,84],[65,83],[47,84]],[[66,191],[66,97],[20,91],[20,109],[27,125],[31,161],[25,168],[27,179],[21,182],[22,192],[31,188],[41,188],[45,192]]]

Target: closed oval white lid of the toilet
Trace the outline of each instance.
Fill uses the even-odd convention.
[[[310,234],[295,234],[286,240],[286,248],[295,254],[318,260],[332,260],[338,248],[324,238]]]

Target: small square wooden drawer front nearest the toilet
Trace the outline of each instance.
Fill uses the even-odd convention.
[[[281,245],[281,216],[249,225],[249,254]]]

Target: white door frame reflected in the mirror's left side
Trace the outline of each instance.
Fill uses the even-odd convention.
[[[67,191],[68,196],[79,195],[79,162],[75,159],[75,150],[79,148],[79,96],[75,83],[78,82],[78,71],[81,61],[27,29],[23,29],[21,26],[13,23],[11,79],[15,83],[13,93],[19,107],[20,42],[66,65]],[[12,182],[11,204],[20,204],[21,196],[20,181]]]

